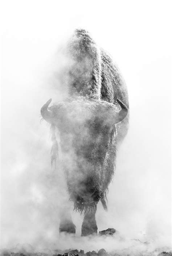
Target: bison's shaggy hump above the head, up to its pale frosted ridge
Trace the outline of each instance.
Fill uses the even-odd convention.
[[[101,99],[101,53],[89,32],[76,29],[67,44],[69,95]]]

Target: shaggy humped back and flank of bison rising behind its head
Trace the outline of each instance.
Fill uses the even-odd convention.
[[[76,29],[67,44],[69,95],[89,96],[110,103],[120,99],[128,107],[126,84],[111,57],[85,29]]]

